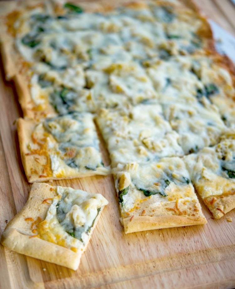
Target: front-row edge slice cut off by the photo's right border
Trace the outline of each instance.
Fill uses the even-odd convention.
[[[214,218],[235,208],[235,134],[228,132],[213,147],[184,157],[192,183]]]

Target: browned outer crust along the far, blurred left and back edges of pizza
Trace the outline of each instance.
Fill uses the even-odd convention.
[[[205,39],[205,49],[210,50],[211,52],[214,51],[214,44],[213,44],[213,37],[212,37],[212,30],[210,28],[209,23],[205,18],[203,18],[199,13],[196,5],[190,1],[182,0],[182,5],[175,6],[174,4],[170,4],[167,2],[167,5],[172,5],[176,11],[190,8],[192,9],[192,13],[195,14],[196,18],[199,18],[202,22],[200,29],[198,30],[198,35]],[[9,33],[9,25],[7,25],[6,15],[9,18],[12,11],[18,11],[19,14],[24,13],[26,9],[31,9],[35,6],[40,6],[44,3],[44,1],[35,1],[33,4],[30,1],[22,1],[22,2],[12,2],[9,5],[7,2],[0,3],[0,7],[3,13],[0,13],[0,23],[3,29],[0,32],[0,44],[1,44],[1,51],[3,55],[3,62],[4,68],[6,73],[6,79],[10,80],[13,79],[13,82],[16,86],[18,91],[19,102],[22,107],[22,111],[24,117],[29,117],[33,119],[41,119],[44,117],[53,117],[57,113],[53,106],[50,105],[49,102],[46,103],[45,106],[37,106],[30,96],[30,84],[29,79],[26,78],[25,72],[29,72],[28,65],[29,63],[25,62],[23,57],[17,52],[14,48],[14,30]],[[65,3],[65,1],[63,2]],[[62,4],[63,4],[62,3]],[[164,1],[162,1],[164,3]],[[161,4],[161,2],[160,2]],[[59,13],[60,6],[56,3],[50,3],[55,8],[55,13]],[[61,3],[60,3],[61,5]],[[83,3],[79,2],[79,5],[85,8],[87,12],[109,12],[115,9],[116,7],[123,5],[131,9],[139,10],[146,7],[145,2],[133,2],[133,1],[119,1],[117,4],[110,6],[107,1],[100,1],[99,3]],[[13,20],[16,17],[12,17],[11,19],[11,26],[13,26]],[[17,65],[16,65],[17,64]],[[22,72],[23,71],[23,72]]]

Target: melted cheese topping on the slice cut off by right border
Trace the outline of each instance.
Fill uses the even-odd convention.
[[[202,198],[219,196],[234,190],[234,158],[234,134],[213,147],[203,148],[197,155],[185,157],[192,182]]]

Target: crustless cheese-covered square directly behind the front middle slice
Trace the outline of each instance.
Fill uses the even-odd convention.
[[[179,134],[164,119],[159,104],[102,109],[96,122],[107,144],[112,167],[184,155],[178,144]]]

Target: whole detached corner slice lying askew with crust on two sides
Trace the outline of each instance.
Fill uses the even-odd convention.
[[[77,270],[100,214],[101,194],[34,183],[1,243],[10,250]]]

